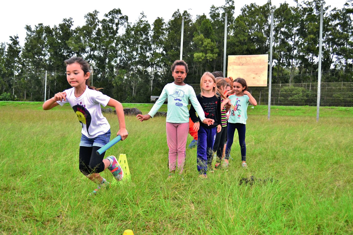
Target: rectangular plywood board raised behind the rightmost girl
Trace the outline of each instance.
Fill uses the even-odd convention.
[[[229,55],[227,76],[244,78],[247,85],[267,86],[268,55]]]

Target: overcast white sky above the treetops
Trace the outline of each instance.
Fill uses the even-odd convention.
[[[202,4],[200,4],[202,2]],[[255,2],[257,5],[263,5],[267,0],[235,0],[235,16],[240,13],[240,8],[245,4]],[[272,4],[277,7],[281,0],[273,0]],[[293,0],[287,0],[289,5],[295,6]],[[299,1],[300,2],[300,1]],[[325,6],[342,8],[344,0],[326,0]],[[222,6],[224,0],[83,0],[83,1],[44,1],[44,0],[6,0],[1,3],[0,13],[0,43],[10,42],[9,36],[18,35],[20,44],[23,45],[26,36],[25,25],[34,25],[43,23],[53,27],[61,23],[64,18],[72,18],[74,27],[84,25],[84,15],[94,10],[99,11],[99,19],[103,19],[103,14],[108,13],[113,8],[120,8],[122,14],[127,15],[129,22],[135,22],[144,12],[150,24],[157,17],[162,17],[168,21],[172,14],[179,9],[180,12],[187,10],[193,17],[205,13],[208,15],[212,5]]]

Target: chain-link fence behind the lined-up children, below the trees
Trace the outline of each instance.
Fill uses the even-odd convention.
[[[190,84],[196,94],[199,84]],[[268,86],[249,87],[259,105],[268,105]],[[353,106],[353,82],[321,82],[320,106]],[[299,84],[272,84],[271,105],[316,106],[317,82]]]

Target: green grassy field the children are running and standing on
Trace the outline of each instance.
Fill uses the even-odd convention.
[[[319,122],[316,107],[273,106],[270,120],[267,106],[249,108],[248,168],[236,137],[229,170],[207,179],[187,149],[183,181],[167,180],[165,118],[126,117],[128,138],[106,156],[126,154],[131,182],[89,198],[76,115],[41,106],[0,102],[0,234],[353,234],[353,108],[321,107]],[[116,133],[118,119],[105,116]],[[239,185],[251,175],[275,181]]]

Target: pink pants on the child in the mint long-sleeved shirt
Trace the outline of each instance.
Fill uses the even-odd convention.
[[[176,168],[178,155],[178,168],[181,174],[184,170],[185,146],[187,134],[189,132],[189,123],[166,123],[167,144],[169,147],[169,171]]]

